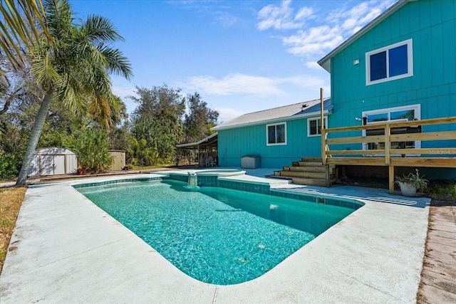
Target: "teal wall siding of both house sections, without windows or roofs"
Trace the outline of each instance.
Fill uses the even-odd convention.
[[[366,85],[366,53],[413,39],[413,76]],[[328,127],[361,125],[363,111],[421,105],[421,118],[456,116],[456,1],[410,1],[331,58]],[[353,61],[359,63],[354,65]],[[289,120],[287,145],[267,146],[266,125],[219,130],[219,164],[240,167],[256,154],[261,167],[288,166],[300,157],[320,157],[321,138],[307,137],[307,120]],[[454,127],[453,127],[454,128]],[[448,125],[425,130],[450,130]],[[352,132],[351,135],[361,135]],[[423,147],[454,142],[423,142]],[[361,145],[347,145],[361,149]]]

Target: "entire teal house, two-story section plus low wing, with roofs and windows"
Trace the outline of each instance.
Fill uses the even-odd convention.
[[[385,135],[385,129],[373,127],[384,122],[406,125],[393,130],[396,137],[418,132],[434,132],[435,137],[435,132],[456,130],[454,123],[423,126],[408,123],[456,117],[454,0],[399,0],[318,64],[331,73],[331,99],[325,100],[323,112],[324,125],[330,130],[373,125],[343,136],[381,136]],[[214,127],[219,132],[219,165],[240,167],[242,157],[258,155],[261,167],[279,168],[301,157],[321,157],[319,101],[249,113]],[[455,148],[455,140],[398,140],[391,142],[388,149],[417,151],[440,147]],[[339,150],[383,151],[379,155],[384,155],[385,149],[383,142],[347,143],[339,147]],[[395,153],[391,156],[403,154]],[[367,151],[359,156],[376,155]],[[407,159],[414,156],[425,155],[408,153]],[[401,167],[406,160],[394,162],[394,166]],[[385,165],[383,169],[388,172],[388,165],[392,164]],[[437,171],[427,169],[427,177],[434,178],[432,172],[435,175]],[[456,177],[455,169],[446,170],[445,177]],[[442,169],[438,172],[441,177]],[[388,174],[390,178],[393,176],[393,167]]]

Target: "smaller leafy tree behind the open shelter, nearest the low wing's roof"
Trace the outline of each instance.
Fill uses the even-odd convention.
[[[188,114],[185,114],[185,142],[197,142],[211,135],[211,127],[217,125],[219,112],[207,108],[198,93],[187,95]]]

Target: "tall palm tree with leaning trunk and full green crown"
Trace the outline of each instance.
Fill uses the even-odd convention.
[[[43,7],[52,39],[41,35],[29,52],[33,77],[43,93],[16,182],[18,186],[26,183],[33,152],[53,100],[79,115],[95,112],[108,127],[110,109],[118,104],[111,90],[110,73],[127,79],[133,75],[128,59],[110,46],[123,38],[108,19],[89,16],[77,24],[68,0],[46,0]]]

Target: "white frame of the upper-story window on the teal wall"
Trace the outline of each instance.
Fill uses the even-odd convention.
[[[389,68],[389,50],[398,48],[399,46],[407,46],[407,68],[408,72],[400,75],[390,77]],[[371,80],[371,56],[386,52],[386,77],[377,80]],[[366,53],[366,85],[375,85],[377,83],[385,83],[387,81],[397,80],[401,78],[413,76],[413,39],[400,41],[398,43],[391,44],[390,46],[384,46],[383,48],[377,48],[376,50],[369,51]]]

